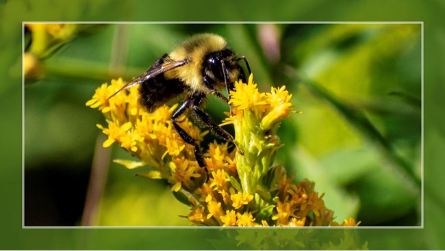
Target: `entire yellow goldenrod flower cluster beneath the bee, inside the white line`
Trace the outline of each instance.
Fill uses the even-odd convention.
[[[216,142],[207,146],[206,168],[200,168],[193,147],[181,140],[170,120],[177,108],[163,106],[149,113],[138,104],[137,87],[118,92],[125,83],[112,80],[99,87],[87,106],[99,109],[107,125],[97,127],[113,143],[138,157],[140,162],[117,160],[127,168],[149,166],[140,174],[166,179],[177,198],[190,205],[188,220],[204,226],[356,226],[353,218],[333,222],[333,211],[325,207],[314,183],[293,183],[281,166],[272,167],[279,148],[279,123],[292,111],[291,95],[282,88],[260,93],[253,83],[236,83],[231,92],[232,113],[225,124],[235,127],[240,147]],[[195,139],[206,132],[183,116],[180,126]]]

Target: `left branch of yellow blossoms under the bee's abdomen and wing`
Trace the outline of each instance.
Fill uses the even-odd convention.
[[[118,92],[108,99],[124,84],[122,79],[112,80],[110,85],[104,83],[86,103],[102,111],[107,121],[107,127],[97,125],[108,136],[103,147],[118,144],[142,161],[118,163],[127,168],[150,166],[153,170],[140,175],[151,179],[168,179],[173,191],[179,191],[181,187],[195,189],[195,179],[203,176],[203,170],[194,159],[192,146],[181,140],[170,120],[176,105],[163,106],[148,113],[138,104],[136,86],[129,92]],[[186,117],[179,118],[179,125],[196,139],[205,134]]]

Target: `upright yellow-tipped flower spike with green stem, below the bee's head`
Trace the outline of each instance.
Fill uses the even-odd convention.
[[[244,155],[236,155],[237,170],[244,191],[255,192],[257,181],[272,166],[275,151],[280,146],[276,135],[281,120],[292,112],[292,95],[285,87],[272,88],[270,93],[260,93],[253,83],[236,82],[230,92],[232,115],[223,124],[233,124],[235,140]]]

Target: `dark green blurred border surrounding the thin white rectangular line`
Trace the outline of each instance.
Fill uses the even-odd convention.
[[[238,249],[237,229],[218,228],[22,228],[22,88],[21,25],[23,21],[422,21],[424,22],[424,228],[356,229],[370,249],[445,249],[445,3],[331,1],[257,2],[174,1],[6,1],[0,3],[0,123],[3,160],[0,175],[0,249],[9,250],[209,250]],[[12,52],[11,52],[12,51]],[[3,53],[2,53],[3,54]],[[251,235],[257,229],[242,230]],[[260,232],[271,233],[270,229]],[[279,231],[294,235],[295,229]],[[306,231],[306,230],[304,230]],[[321,241],[339,231],[314,229]],[[272,233],[273,235],[273,233]],[[304,249],[304,248],[303,248]]]

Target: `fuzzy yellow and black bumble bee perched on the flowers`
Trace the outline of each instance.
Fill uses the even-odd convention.
[[[244,60],[250,75],[251,69],[246,58],[237,57],[236,53],[227,47],[224,38],[215,34],[199,34],[179,44],[171,53],[164,54],[144,74],[129,81],[120,90],[139,85],[138,101],[149,112],[183,95],[183,103],[171,117],[172,124],[183,141],[194,147],[199,166],[205,167],[196,140],[179,127],[177,119],[186,111],[191,111],[196,122],[209,127],[212,133],[238,148],[232,135],[214,124],[202,107],[207,94],[214,94],[228,103],[229,99],[218,90],[225,87],[230,93],[236,80],[246,81],[244,70],[238,64],[240,60]]]

